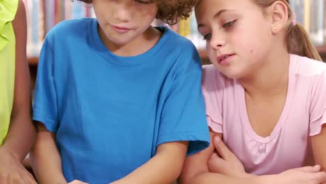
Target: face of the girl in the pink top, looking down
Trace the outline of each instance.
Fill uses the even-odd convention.
[[[210,61],[227,77],[248,77],[267,59],[272,19],[251,0],[201,0],[195,8]]]

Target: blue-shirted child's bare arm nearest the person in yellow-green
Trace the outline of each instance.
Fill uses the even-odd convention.
[[[67,183],[61,169],[61,157],[56,148],[55,135],[45,125],[37,123],[38,133],[31,151],[33,171],[39,183]]]

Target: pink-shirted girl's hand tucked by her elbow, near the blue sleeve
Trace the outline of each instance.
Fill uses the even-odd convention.
[[[214,137],[212,144],[217,153],[214,152],[208,160],[208,169],[211,172],[241,178],[250,176],[244,171],[240,160],[226,147],[219,136]]]

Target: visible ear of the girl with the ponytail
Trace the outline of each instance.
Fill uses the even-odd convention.
[[[275,1],[268,9],[272,18],[272,33],[279,33],[286,27],[286,23],[288,22],[288,6],[283,1]]]

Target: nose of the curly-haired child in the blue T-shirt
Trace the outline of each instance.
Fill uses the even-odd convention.
[[[133,1],[116,1],[114,19],[119,22],[129,22],[132,18]]]

